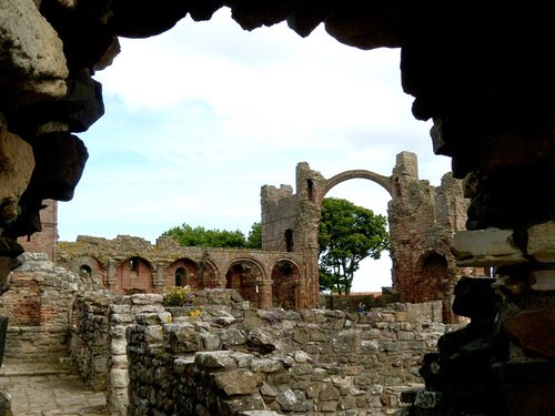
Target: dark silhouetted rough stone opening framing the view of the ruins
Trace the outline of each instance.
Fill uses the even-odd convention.
[[[304,37],[323,22],[351,47],[401,48],[413,114],[433,120],[434,152],[451,156],[453,175],[467,184],[467,231],[455,235],[454,254],[464,266],[495,267],[497,276],[493,285],[478,278],[455,287],[454,312],[472,322],[426,356],[426,387],[414,393],[411,412],[553,414],[555,189],[545,184],[555,179],[555,28],[547,2],[488,9],[415,1],[0,0],[1,290],[22,252],[16,239],[38,231],[42,201],[72,197],[87,160],[73,133],[103,112],[90,75],[110,64],[118,37],[153,35],[186,14],[209,20],[223,6],[245,30],[286,20]],[[240,361],[218,356],[198,365],[225,367],[230,359]]]

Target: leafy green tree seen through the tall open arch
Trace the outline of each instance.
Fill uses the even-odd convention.
[[[320,287],[350,294],[354,273],[366,257],[390,247],[387,220],[350,201],[325,197],[320,220]]]

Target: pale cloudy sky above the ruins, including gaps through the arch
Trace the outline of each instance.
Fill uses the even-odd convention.
[[[246,32],[229,9],[189,17],[149,39],[120,39],[97,72],[105,114],[79,134],[89,150],[59,235],[155,242],[188,223],[241,230],[260,221],[262,185],[295,185],[307,162],[325,177],[366,169],[390,175],[401,151],[417,154],[420,177],[438,185],[451,160],[433,154],[431,123],[411,113],[400,50],[362,51],[323,26],[303,39],[281,23]],[[352,180],[327,196],[386,214],[387,193]],[[355,291],[391,285],[391,261],[369,261]]]

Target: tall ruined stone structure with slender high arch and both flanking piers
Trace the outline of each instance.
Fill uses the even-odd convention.
[[[445,322],[457,322],[458,317],[451,312],[456,281],[463,273],[474,276],[488,273],[482,267],[457,267],[451,253],[451,241],[455,232],[464,230],[468,207],[461,181],[453,179],[451,173],[442,177],[438,186],[420,180],[414,153],[398,153],[391,176],[355,170],[325,179],[311,170],[307,163],[299,163],[294,195],[284,185],[279,190],[268,185],[262,187],[263,246],[273,244],[271,239],[274,236],[283,239],[290,231],[294,236],[293,248],[302,253],[307,264],[307,280],[312,280],[312,284],[306,285],[306,296],[317,296],[317,239],[322,200],[333,186],[354,177],[371,180],[392,196],[387,206],[392,285],[400,292],[401,301],[443,301]],[[285,229],[291,227],[291,224],[294,224],[293,229]]]

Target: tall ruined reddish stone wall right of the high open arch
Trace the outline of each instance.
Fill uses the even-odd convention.
[[[452,293],[463,270],[455,264],[451,242],[456,231],[464,230],[468,206],[461,181],[446,173],[440,186],[432,186],[418,179],[416,155],[403,152],[397,155],[392,182],[391,253],[401,301],[443,301],[445,322],[456,322]]]

